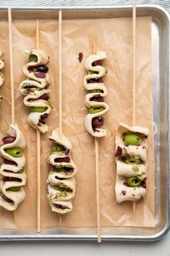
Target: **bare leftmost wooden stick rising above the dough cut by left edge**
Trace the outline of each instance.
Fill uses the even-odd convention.
[[[8,8],[8,25],[9,25],[9,63],[10,63],[10,84],[11,84],[11,101],[12,101],[12,124],[14,124],[14,68],[12,54],[12,10]]]

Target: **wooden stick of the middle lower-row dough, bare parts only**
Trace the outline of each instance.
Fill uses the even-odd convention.
[[[62,139],[62,11],[59,10],[59,139]],[[61,226],[61,214],[59,214]]]

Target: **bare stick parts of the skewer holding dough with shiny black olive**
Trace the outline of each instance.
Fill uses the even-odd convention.
[[[36,49],[39,49],[39,24],[36,23]],[[41,132],[37,129],[37,231],[41,233]]]

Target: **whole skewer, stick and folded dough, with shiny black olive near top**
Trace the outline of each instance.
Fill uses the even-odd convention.
[[[46,117],[51,112],[49,101],[50,79],[48,75],[48,55],[39,49],[39,25],[36,22],[36,49],[25,51],[29,63],[23,67],[27,79],[20,83],[20,92],[25,96],[24,104],[30,107],[27,123],[36,129],[37,139],[37,231],[41,232],[41,133],[48,131]]]

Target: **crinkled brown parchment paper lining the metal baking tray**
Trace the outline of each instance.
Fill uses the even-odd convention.
[[[99,166],[101,181],[101,225],[102,226],[154,226],[154,152],[153,152],[153,102],[151,86],[151,38],[150,17],[137,18],[137,106],[136,123],[148,127],[148,189],[145,199],[137,202],[136,214],[132,215],[132,202],[118,204],[115,199],[114,137],[121,121],[132,125],[132,19],[64,20],[62,26],[62,75],[63,75],[63,131],[72,142],[72,159],[79,173],[76,178],[76,196],[72,200],[73,210],[62,216],[62,226],[96,226],[95,197],[95,146],[94,139],[85,131],[85,91],[83,78],[85,59],[92,53],[93,29],[98,38],[98,50],[106,51],[108,75],[105,84],[108,95],[105,101],[110,110],[105,117],[108,134],[99,142]],[[9,53],[7,22],[1,22],[0,47],[4,51],[5,83],[1,88],[4,103],[1,105],[1,137],[11,123]],[[46,199],[48,165],[46,155],[51,150],[48,136],[59,125],[58,91],[58,22],[40,20],[40,46],[50,57],[51,99],[54,109],[47,123],[48,133],[41,136],[41,227],[59,226],[59,215],[51,212]],[[15,120],[27,139],[27,185],[24,202],[15,212],[0,208],[0,228],[36,228],[36,132],[27,124],[29,110],[22,103],[18,86],[25,75],[22,67],[27,63],[25,49],[35,48],[35,20],[14,20],[12,25],[14,54]],[[79,52],[83,53],[80,63]]]

